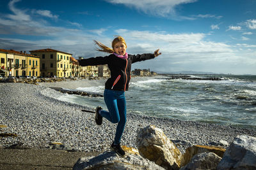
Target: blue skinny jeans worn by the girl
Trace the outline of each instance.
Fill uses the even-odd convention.
[[[125,92],[105,89],[104,101],[108,107],[108,111],[101,110],[100,115],[113,124],[118,123],[114,140],[114,144],[117,145],[121,142],[126,123]]]

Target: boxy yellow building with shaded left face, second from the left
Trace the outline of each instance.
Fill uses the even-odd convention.
[[[72,75],[70,63],[71,53],[61,52],[51,48],[32,50],[30,53],[40,57],[41,76],[68,77]]]

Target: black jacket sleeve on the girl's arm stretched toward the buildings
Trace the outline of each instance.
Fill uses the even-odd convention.
[[[106,57],[92,57],[89,59],[79,60],[80,66],[98,66],[108,64],[109,56]]]

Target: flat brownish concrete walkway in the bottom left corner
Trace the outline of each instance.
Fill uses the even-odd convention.
[[[99,154],[38,148],[0,148],[0,169],[72,169],[79,158]]]

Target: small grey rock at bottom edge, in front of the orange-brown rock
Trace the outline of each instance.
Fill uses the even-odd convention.
[[[198,153],[193,156],[191,161],[180,170],[192,170],[192,169],[211,169],[215,170],[220,162],[221,157],[213,152]]]

